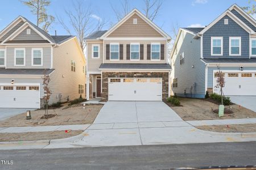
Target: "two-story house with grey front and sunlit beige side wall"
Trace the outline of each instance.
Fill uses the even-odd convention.
[[[43,106],[85,97],[85,57],[75,36],[51,36],[19,16],[0,32],[0,108]]]

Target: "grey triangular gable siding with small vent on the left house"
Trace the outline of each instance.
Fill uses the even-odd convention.
[[[31,30],[31,34],[27,34],[27,29]],[[22,32],[19,33],[13,40],[44,40],[43,37],[38,35],[33,29],[30,27],[25,28]]]

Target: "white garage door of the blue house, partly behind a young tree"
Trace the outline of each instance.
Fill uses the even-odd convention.
[[[256,73],[224,73],[226,96],[255,96],[256,95]],[[216,88],[217,77],[214,74],[214,92],[220,94],[220,88]]]

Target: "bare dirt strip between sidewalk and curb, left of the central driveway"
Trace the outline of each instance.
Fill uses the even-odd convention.
[[[38,141],[38,140],[51,140],[68,138],[81,134],[84,130],[71,130],[68,133],[62,131],[40,131],[40,132],[27,132],[27,133],[0,133],[1,142],[10,141]]]

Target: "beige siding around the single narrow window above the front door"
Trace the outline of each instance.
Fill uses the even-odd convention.
[[[100,45],[100,58],[92,58],[92,45]],[[87,42],[87,55],[88,72],[101,72],[98,68],[103,63],[103,42]]]

